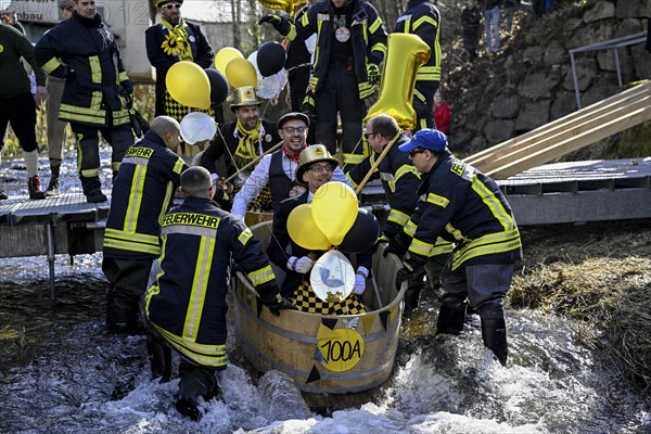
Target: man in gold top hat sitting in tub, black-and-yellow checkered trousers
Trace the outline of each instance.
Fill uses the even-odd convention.
[[[332,174],[339,162],[323,144],[307,146],[298,157],[295,179],[307,190],[302,194],[281,202],[273,214],[273,229],[267,254],[269,259],[286,273],[280,290],[298,310],[321,315],[362,314],[366,308],[360,295],[366,290],[366,279],[371,269],[371,252],[357,255],[357,273],[352,295],[339,303],[322,302],[309,285],[309,273],[318,256],[324,252],[309,251],[291,240],[288,219],[297,206],[311,203],[319,187],[332,181]],[[334,212],[334,210],[333,210]],[[290,246],[290,254],[288,254]]]

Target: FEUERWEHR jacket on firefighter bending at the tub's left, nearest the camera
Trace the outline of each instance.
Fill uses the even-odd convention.
[[[231,258],[265,299],[278,294],[269,259],[246,225],[208,199],[188,197],[173,208],[162,238],[162,271],[146,291],[146,318],[182,356],[222,369]]]

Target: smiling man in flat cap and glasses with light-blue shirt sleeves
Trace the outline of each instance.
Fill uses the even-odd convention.
[[[278,135],[282,148],[265,155],[255,167],[242,189],[235,194],[231,213],[244,218],[248,203],[257,197],[265,187],[271,191],[271,208],[278,209],[280,202],[289,196],[305,192],[305,187],[295,179],[298,155],[307,148],[309,118],[303,113],[290,112],[278,119]],[[336,167],[332,175],[335,181],[350,184],[342,169]]]

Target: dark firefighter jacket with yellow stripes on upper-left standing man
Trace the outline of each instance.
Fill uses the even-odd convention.
[[[97,14],[73,16],[47,31],[35,48],[49,75],[65,78],[59,107],[61,120],[95,127],[129,124],[123,92],[131,93],[115,38]],[[111,119],[112,125],[107,125]]]

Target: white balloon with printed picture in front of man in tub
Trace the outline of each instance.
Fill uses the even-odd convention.
[[[336,303],[345,299],[355,286],[355,269],[340,251],[328,251],[314,265],[309,282],[317,297]]]

